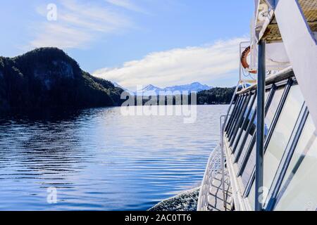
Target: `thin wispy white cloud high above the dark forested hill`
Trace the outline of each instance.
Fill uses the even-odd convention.
[[[85,48],[102,34],[122,32],[133,27],[131,20],[113,11],[108,4],[63,0],[57,5],[57,20],[46,20],[46,6],[37,8],[44,22],[37,24],[32,48],[56,46],[61,49]]]

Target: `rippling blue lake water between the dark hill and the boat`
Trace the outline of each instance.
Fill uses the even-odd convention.
[[[198,105],[192,124],[120,108],[2,115],[0,210],[147,210],[200,185],[227,108]]]

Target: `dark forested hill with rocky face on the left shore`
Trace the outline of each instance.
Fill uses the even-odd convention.
[[[80,69],[56,48],[0,57],[0,110],[120,105],[123,90]]]

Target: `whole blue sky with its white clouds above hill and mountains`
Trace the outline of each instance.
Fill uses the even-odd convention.
[[[47,20],[48,4],[57,20]],[[253,0],[4,1],[0,55],[57,46],[83,70],[131,89],[232,86],[253,10]]]

